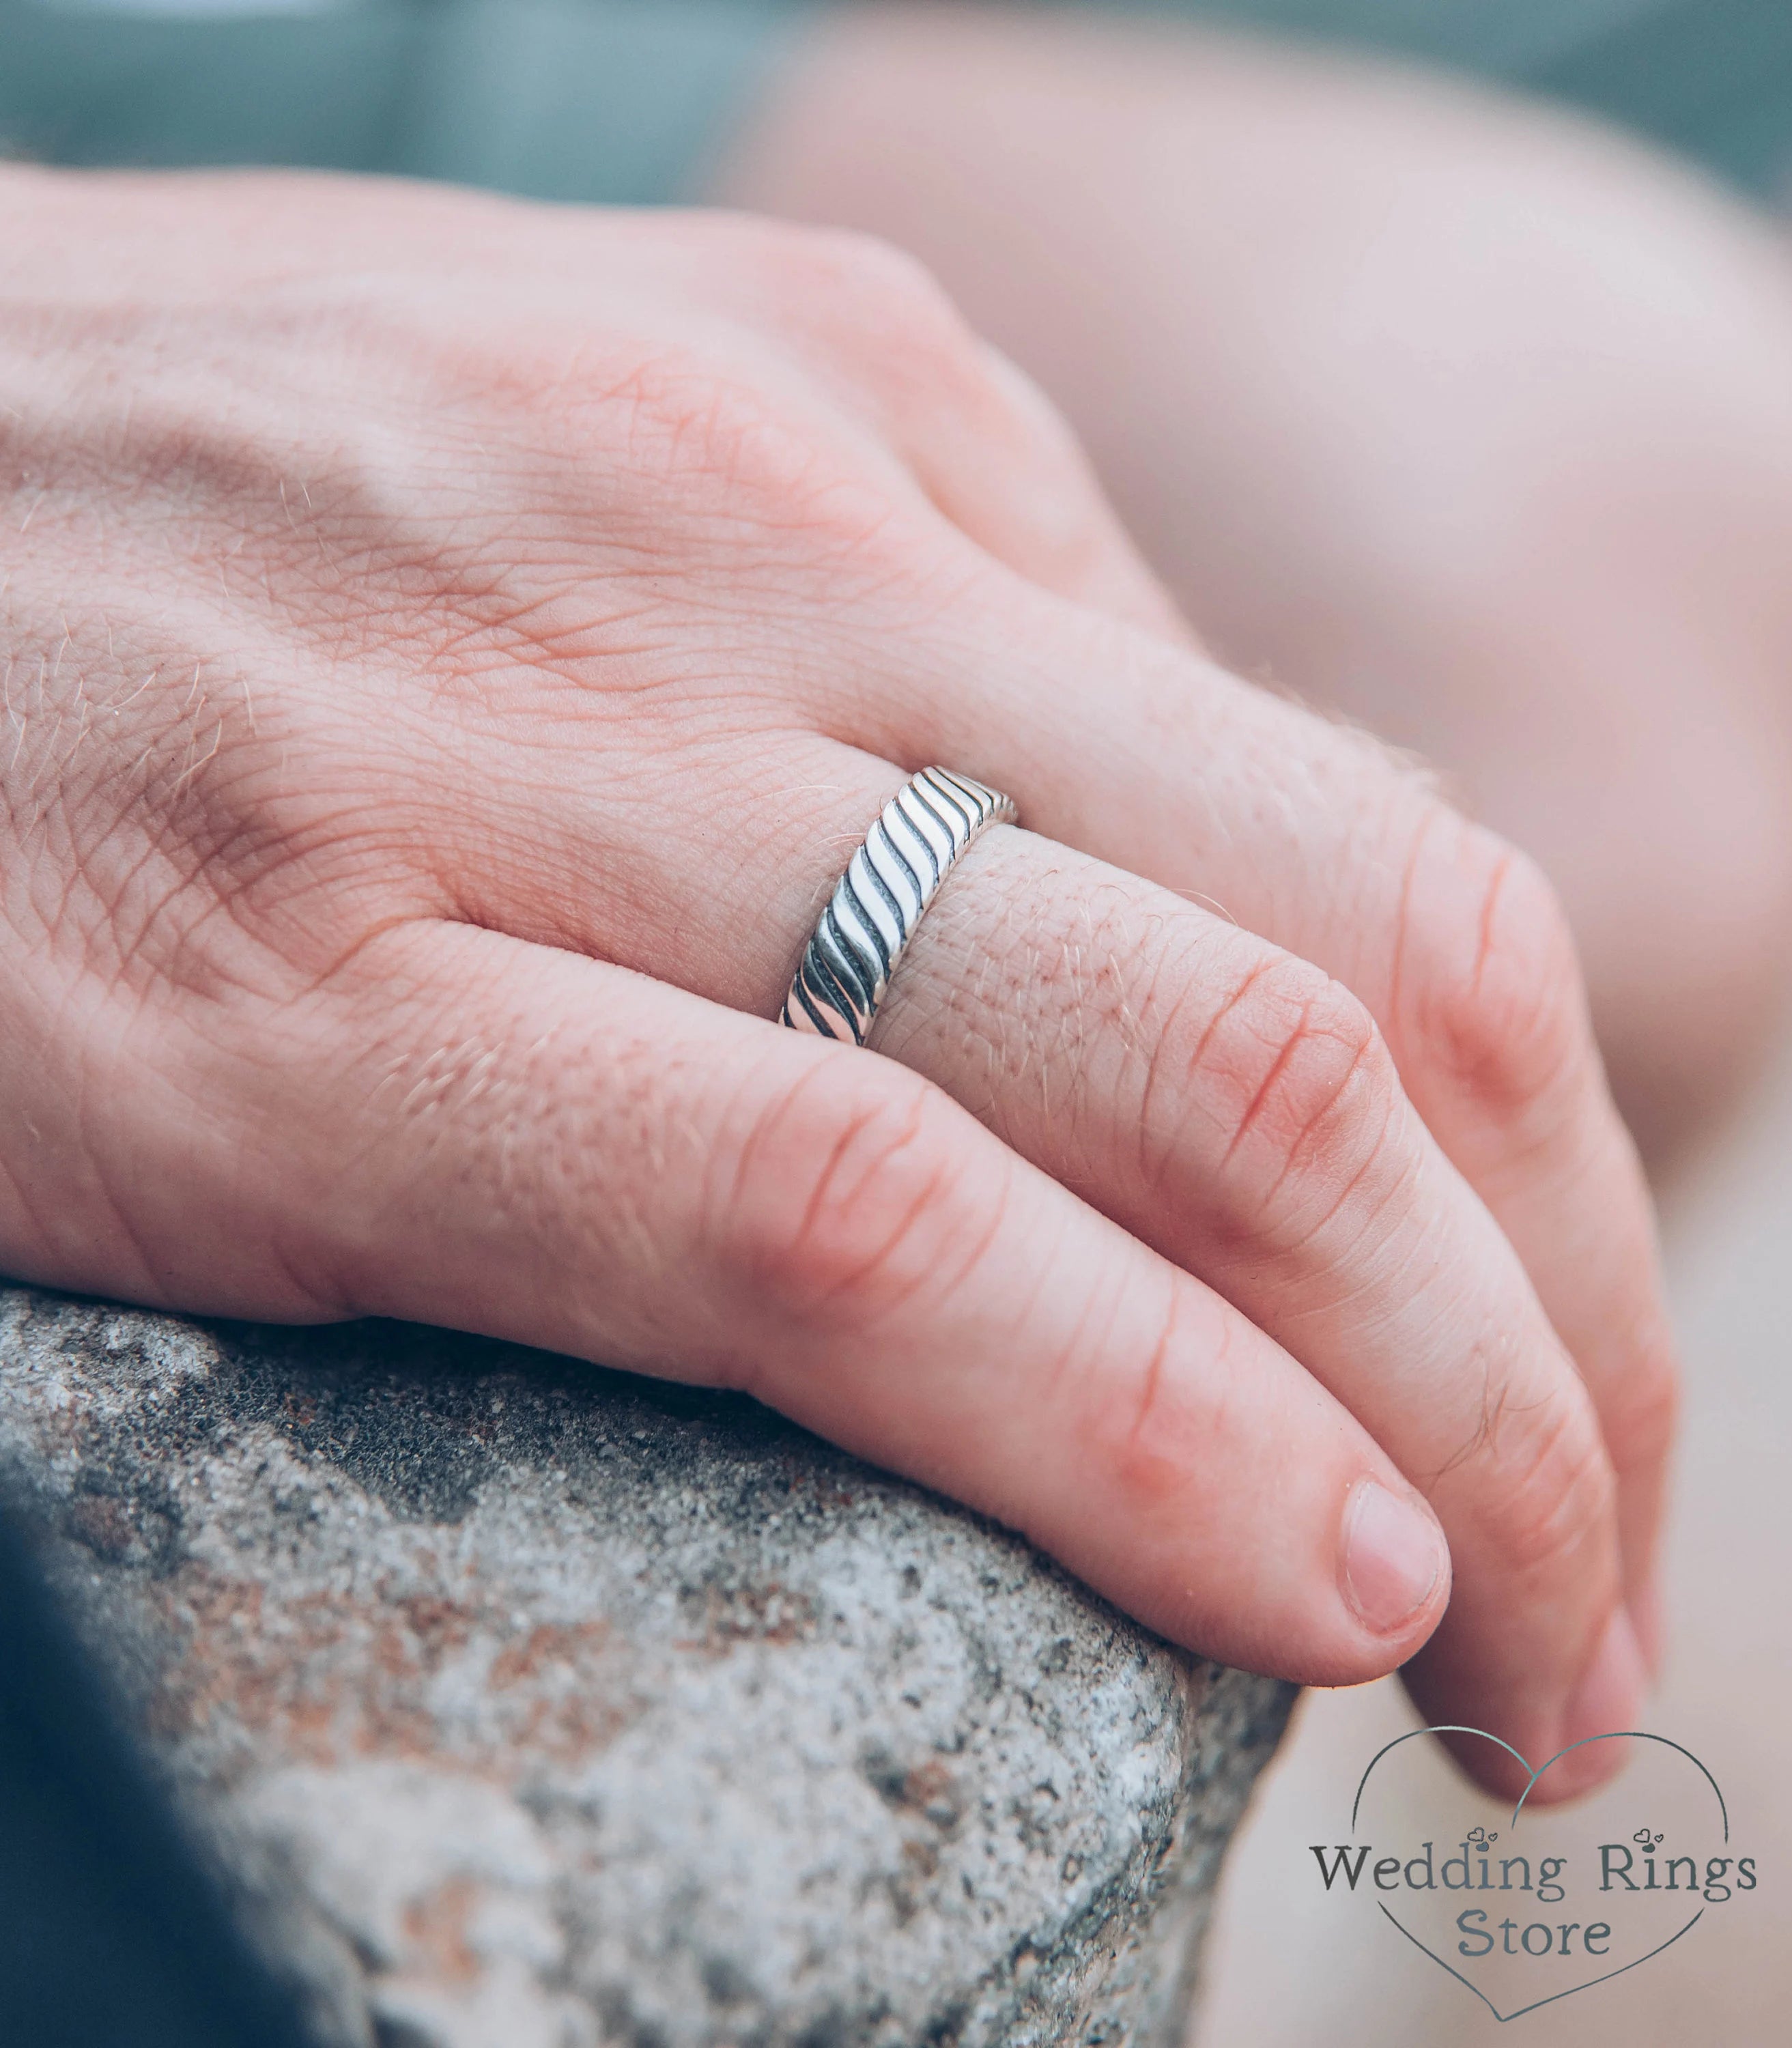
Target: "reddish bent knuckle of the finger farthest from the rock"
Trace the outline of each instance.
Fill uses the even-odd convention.
[[[1497,1122],[1522,1124],[1591,1063],[1579,958],[1534,860],[1468,827],[1466,862],[1466,909],[1401,934],[1417,967],[1421,1057]]]

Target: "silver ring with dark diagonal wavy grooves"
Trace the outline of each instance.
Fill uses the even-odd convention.
[[[989,825],[1018,825],[1014,799],[950,768],[924,768],[883,807],[840,877],[780,1022],[864,1044],[922,911],[965,848]]]

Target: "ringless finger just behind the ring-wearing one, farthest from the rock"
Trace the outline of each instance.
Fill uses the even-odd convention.
[[[924,633],[901,680],[860,688],[852,729],[963,764],[1032,829],[1214,903],[1362,999],[1593,1395],[1647,1636],[1673,1343],[1647,1190],[1546,885],[1364,735],[1071,606],[997,606],[999,637]]]

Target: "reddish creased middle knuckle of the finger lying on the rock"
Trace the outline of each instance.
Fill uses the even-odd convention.
[[[963,1239],[948,1100],[893,1065],[842,1065],[811,1069],[756,1116],[721,1227],[750,1294],[805,1329],[860,1329],[901,1309]]]

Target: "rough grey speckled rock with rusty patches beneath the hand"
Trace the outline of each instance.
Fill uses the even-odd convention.
[[[1290,1690],[750,1401],[0,1290],[0,1483],[330,2048],[1165,2044]]]

